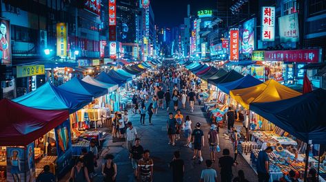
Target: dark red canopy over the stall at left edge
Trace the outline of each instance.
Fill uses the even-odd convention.
[[[41,98],[40,98],[41,99]],[[1,146],[27,146],[68,119],[68,110],[46,111],[0,100]]]

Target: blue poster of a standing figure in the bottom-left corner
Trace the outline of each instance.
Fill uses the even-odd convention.
[[[7,181],[26,181],[24,148],[7,147]]]

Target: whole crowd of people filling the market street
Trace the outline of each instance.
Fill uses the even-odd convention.
[[[210,159],[205,160],[206,168],[198,177],[201,182],[218,181],[218,172],[213,168],[213,163],[217,160],[216,152],[220,152],[219,128],[218,124],[210,124],[210,130],[204,135],[202,130],[202,121],[194,122],[190,115],[184,115],[183,111],[190,108],[190,113],[194,112],[194,104],[198,102],[200,105],[201,93],[207,92],[201,90],[201,79],[193,78],[191,73],[186,69],[177,69],[176,67],[159,67],[154,71],[147,72],[145,76],[132,81],[132,114],[140,115],[139,123],[141,126],[148,124],[154,125],[152,121],[153,115],[161,109],[167,112],[166,130],[168,136],[168,145],[176,146],[176,142],[180,142],[186,148],[193,148],[194,154],[192,160],[198,159],[198,163],[203,163],[202,150],[205,145],[209,146]],[[172,90],[170,90],[172,89]],[[171,93],[170,93],[171,91]],[[173,102],[173,105],[172,103]],[[189,107],[186,106],[189,104]],[[170,106],[173,106],[170,108]],[[172,111],[171,111],[172,110]],[[173,113],[173,110],[176,114]],[[218,158],[218,166],[221,168],[221,182],[247,182],[245,172],[238,170],[238,174],[234,177],[232,168],[237,166],[236,161],[238,154],[238,138],[240,137],[238,130],[234,127],[236,117],[244,119],[245,113],[236,114],[230,107],[226,113],[228,133],[224,135],[230,137],[233,144],[234,156],[230,155],[228,148],[223,148],[222,156]],[[192,128],[194,124],[194,128]],[[245,124],[244,124],[245,126]],[[205,136],[207,136],[205,138]],[[129,159],[134,170],[134,178],[140,182],[153,181],[154,161],[150,158],[150,150],[141,146],[141,138],[138,136],[136,128],[130,122],[128,111],[122,113],[114,113],[112,122],[112,137],[125,138],[126,148],[129,151]],[[258,181],[269,181],[269,158],[268,153],[272,152],[271,147],[259,152],[257,161]],[[76,165],[71,170],[70,181],[74,182],[92,182],[95,168],[101,168],[104,182],[114,182],[117,176],[117,165],[114,163],[114,155],[105,155],[104,162],[98,165],[99,151],[96,148],[96,141],[90,142],[90,151],[86,148],[82,149],[81,158],[77,159]],[[191,159],[190,159],[191,160]],[[196,161],[194,161],[196,162]],[[169,163],[172,170],[172,179],[174,182],[184,180],[185,161],[181,159],[181,152],[175,150],[173,159]],[[55,177],[49,172],[48,166],[44,167],[44,172],[37,179],[39,182],[55,181]],[[308,181],[315,182],[316,170],[309,172]],[[280,179],[283,181],[298,181],[294,171]]]

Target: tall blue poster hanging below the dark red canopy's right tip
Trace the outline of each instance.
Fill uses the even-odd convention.
[[[69,170],[72,159],[72,141],[70,133],[70,120],[66,120],[57,128],[54,128],[54,134],[57,141],[57,166],[59,175]]]

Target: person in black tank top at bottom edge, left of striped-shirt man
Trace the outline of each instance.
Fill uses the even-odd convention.
[[[116,181],[116,163],[113,162],[113,155],[106,155],[104,157],[105,162],[102,164],[103,182],[115,182]]]

